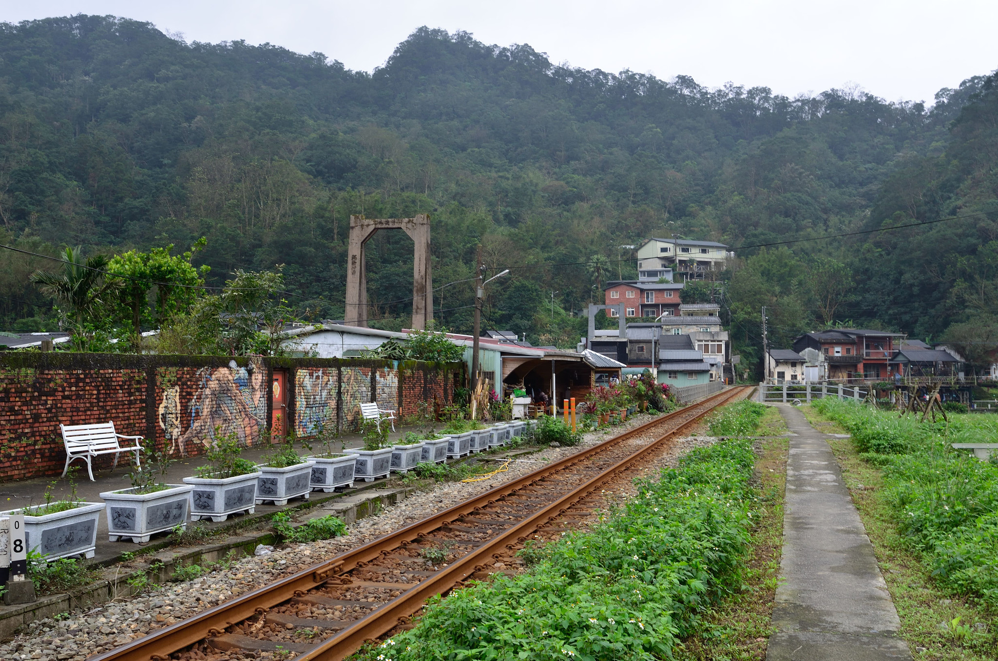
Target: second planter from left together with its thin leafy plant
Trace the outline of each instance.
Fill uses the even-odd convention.
[[[105,491],[101,494],[107,506],[108,539],[131,538],[145,543],[150,535],[172,530],[178,525],[187,528],[193,484],[167,484],[163,480],[173,459],[164,449],[157,452],[155,442],[143,443],[146,465],[137,466],[128,477],[131,488]]]

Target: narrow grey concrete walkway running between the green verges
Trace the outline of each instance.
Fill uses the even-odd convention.
[[[911,659],[897,611],[838,462],[793,406],[780,584],[767,661]]]

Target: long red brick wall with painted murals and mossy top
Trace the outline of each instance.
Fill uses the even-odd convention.
[[[420,399],[449,401],[453,375],[463,374],[460,364],[390,360],[2,352],[0,480],[62,473],[60,422],[113,420],[119,433],[155,439],[174,455],[202,454],[220,435],[252,446],[269,427],[274,368],[293,374],[291,422],[301,436],[330,421],[357,428],[372,374],[379,406],[409,415]],[[113,460],[100,457],[94,467]],[[82,460],[73,465],[85,469]]]

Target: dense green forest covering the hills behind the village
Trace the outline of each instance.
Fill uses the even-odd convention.
[[[675,234],[739,251],[714,295],[749,362],[762,305],[775,345],[834,324],[966,338],[995,327],[996,85],[974,77],[929,107],[791,99],[427,28],[368,74],[114,17],[0,24],[0,244],[179,255],[204,237],[191,260],[209,285],[280,271],[299,316],[341,319],[349,215],[429,213],[443,325],[470,329],[457,281],[481,244],[513,270],[489,286],[486,327],[571,346],[597,282],[635,276],[622,247]],[[968,218],[751,248],[952,216]],[[402,328],[411,241],[369,246],[374,325]],[[58,266],[0,251],[0,329],[55,325],[28,276]]]

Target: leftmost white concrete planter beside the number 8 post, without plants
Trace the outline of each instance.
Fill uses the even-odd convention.
[[[97,546],[97,520],[104,509],[103,502],[81,502],[78,507],[42,516],[24,515],[24,541],[27,550],[35,550],[46,560],[71,555],[94,557]],[[21,509],[8,509],[2,514],[20,514]]]

